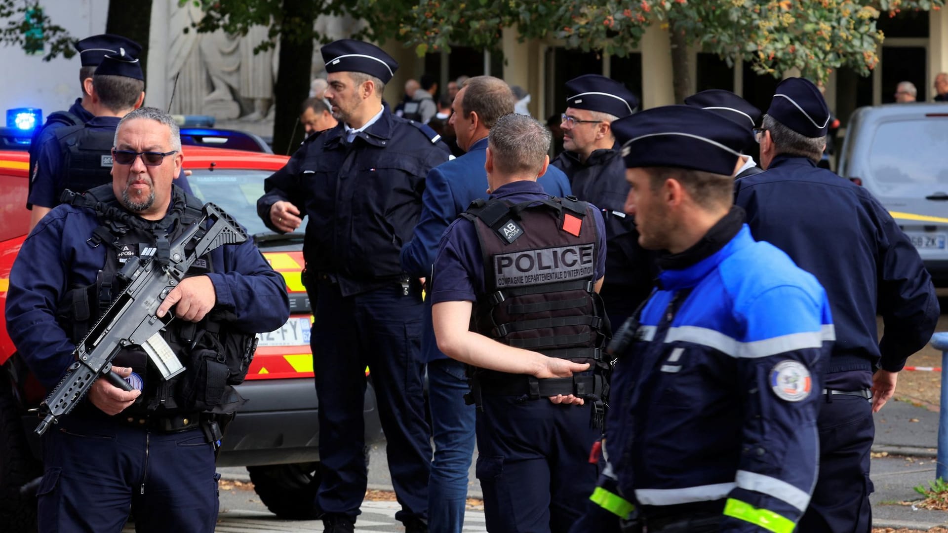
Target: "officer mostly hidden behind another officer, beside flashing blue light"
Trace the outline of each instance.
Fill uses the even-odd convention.
[[[95,114],[93,113],[92,102],[92,75],[96,67],[102,62],[105,54],[118,54],[118,48],[123,48],[125,52],[132,57],[138,57],[141,53],[141,46],[135,41],[127,39],[120,35],[102,33],[93,35],[77,41],[76,50],[79,52],[79,59],[82,66],[79,69],[79,83],[82,87],[82,98],[77,98],[68,111],[54,111],[46,117],[46,123],[43,127],[36,128],[33,137],[29,143],[29,175],[33,175],[36,167],[36,161],[40,156],[40,146],[47,140],[53,138],[57,129],[68,126],[77,126],[88,122]],[[32,182],[30,182],[32,190]],[[32,205],[27,203],[27,209]]]

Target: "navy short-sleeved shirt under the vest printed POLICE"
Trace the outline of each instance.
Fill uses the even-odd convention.
[[[498,198],[518,204],[548,196],[536,181],[514,181],[491,193]],[[606,273],[606,228],[602,215],[593,207],[596,231],[596,264],[593,279],[598,281]],[[586,224],[587,221],[583,221]],[[431,303],[477,302],[477,296],[485,292],[483,281],[483,254],[478,241],[477,229],[466,218],[458,218],[445,231],[434,261],[434,280]]]

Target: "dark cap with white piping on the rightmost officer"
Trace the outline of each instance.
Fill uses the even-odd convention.
[[[830,107],[810,80],[787,78],[776,86],[767,114],[807,138],[827,135]]]

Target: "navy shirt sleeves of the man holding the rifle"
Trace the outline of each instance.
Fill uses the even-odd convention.
[[[93,211],[57,206],[30,232],[10,270],[7,331],[29,369],[48,388],[73,362],[75,348],[56,321],[56,311],[67,290],[94,284],[105,265],[108,247],[86,243],[99,225]],[[289,316],[286,285],[252,240],[210,254],[215,309],[233,313],[233,325],[246,331],[283,325]]]

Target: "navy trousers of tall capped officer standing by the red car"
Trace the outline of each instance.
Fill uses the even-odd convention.
[[[313,370],[319,397],[322,479],[317,505],[353,520],[368,482],[362,418],[369,367],[401,522],[427,520],[430,428],[425,418],[420,292],[397,284],[343,298],[319,283]],[[311,297],[311,300],[312,297]]]

